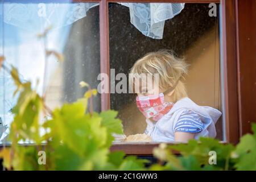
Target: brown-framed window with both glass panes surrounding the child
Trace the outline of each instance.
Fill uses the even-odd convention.
[[[216,125],[217,137],[236,143],[239,137],[237,92],[234,91],[237,75],[232,40],[236,32],[234,24],[229,23],[232,20],[226,16],[230,12],[233,15],[234,5],[213,1],[217,5],[217,16],[210,17],[207,0],[161,3],[167,5],[174,2],[185,3],[184,8],[174,17],[164,20],[158,26],[162,29],[156,34],[154,31],[143,31],[138,22],[130,21],[131,15],[134,15],[131,10],[139,8],[133,6],[134,1],[19,2],[17,5],[23,6],[22,10],[25,7],[36,11],[15,11],[21,14],[11,14],[13,16],[7,16],[7,13],[19,7],[11,7],[11,3],[6,2],[4,11],[1,9],[4,23],[0,28],[0,54],[18,67],[24,80],[34,80],[34,84],[36,78],[43,80],[38,85],[39,92],[47,93],[46,100],[54,107],[81,97],[84,90],[79,88],[80,81],[86,81],[95,88],[100,82],[97,80],[99,73],[110,77],[110,68],[115,68],[115,74],[123,72],[127,75],[133,63],[145,53],[162,48],[173,49],[177,56],[184,56],[191,65],[185,79],[189,97],[199,105],[221,110],[222,118]],[[142,10],[143,13],[146,11]],[[33,21],[26,22],[26,18]],[[36,38],[38,33],[50,26],[52,29],[47,39]],[[30,31],[24,31],[26,29]],[[45,51],[51,55],[44,56]],[[65,59],[63,62],[62,56]],[[31,60],[32,57],[35,58]],[[6,73],[1,73],[1,85],[6,88],[6,84],[10,84],[8,89],[12,89],[13,83],[6,76]],[[1,113],[3,123],[11,117],[6,113],[11,109],[11,103],[15,102],[6,101],[7,93],[7,90],[1,93],[4,101],[1,109],[4,111]],[[118,110],[127,135],[142,133],[146,127],[141,115],[133,118],[130,114],[138,113],[132,94],[102,93],[94,102],[97,103],[94,104],[97,111]],[[125,150],[127,154],[150,154],[154,145],[119,143],[113,145],[113,150]]]

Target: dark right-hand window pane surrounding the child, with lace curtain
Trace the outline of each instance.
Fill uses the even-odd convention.
[[[146,53],[171,49],[190,65],[184,81],[188,97],[198,105],[221,111],[218,13],[209,16],[208,4],[185,3],[175,4],[172,12],[176,14],[166,18],[170,3],[151,5],[110,3],[110,68],[115,69],[115,75],[128,76],[135,61]],[[110,101],[111,108],[119,111],[126,135],[144,132],[145,118],[134,94],[112,93]],[[222,118],[216,123],[216,132],[216,138],[222,139]]]

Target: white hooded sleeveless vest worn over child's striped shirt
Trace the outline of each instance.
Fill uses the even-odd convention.
[[[213,107],[199,106],[188,97],[177,101],[172,109],[156,123],[146,119],[147,128],[144,133],[150,135],[154,142],[174,142],[176,122],[186,110],[192,110],[197,113],[201,122],[203,122],[203,130],[200,133],[195,133],[195,139],[199,139],[199,137],[216,137],[215,123],[220,118],[221,112]]]

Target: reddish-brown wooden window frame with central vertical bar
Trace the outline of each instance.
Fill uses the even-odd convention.
[[[10,0],[9,0],[10,1]],[[8,0],[5,2],[9,2]],[[15,1],[15,0],[14,0]],[[73,0],[73,2],[99,2],[100,3],[100,66],[101,73],[110,75],[109,60],[109,6],[112,2],[171,2],[171,3],[218,3],[220,4],[220,45],[221,45],[221,74],[222,74],[222,105],[223,119],[225,122],[224,142],[236,144],[245,131],[241,129],[242,120],[240,116],[241,97],[238,95],[240,84],[237,68],[238,52],[238,29],[237,29],[237,2],[238,0]],[[10,1],[13,2],[13,1]],[[17,1],[18,2],[18,1]],[[31,2],[23,0],[22,2]],[[52,0],[41,0],[40,2],[52,2]],[[63,2],[56,0],[55,2]],[[65,2],[65,1],[64,1]],[[255,27],[255,26],[254,26]],[[238,45],[238,46],[237,46]],[[240,99],[240,100],[239,100]],[[255,99],[254,99],[255,101]],[[240,104],[240,105],[239,105]],[[101,94],[101,109],[110,109],[110,94]],[[138,142],[113,144],[111,151],[122,150],[127,155],[152,155],[152,149],[159,143]]]

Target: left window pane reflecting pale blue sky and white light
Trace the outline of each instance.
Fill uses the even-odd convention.
[[[97,88],[100,73],[99,9],[96,3],[4,3],[1,6],[0,55],[6,67],[18,68],[51,109],[81,98],[85,81]],[[45,33],[45,34],[44,34]],[[36,82],[39,80],[39,84]],[[9,133],[14,82],[9,72],[0,75],[0,140]],[[100,95],[94,97],[100,111]]]

